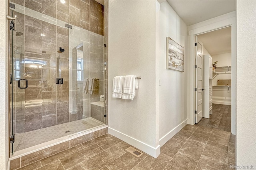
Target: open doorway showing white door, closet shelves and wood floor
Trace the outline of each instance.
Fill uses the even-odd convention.
[[[195,123],[231,132],[231,26],[195,40]]]

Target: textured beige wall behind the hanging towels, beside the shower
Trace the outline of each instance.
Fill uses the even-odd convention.
[[[109,1],[109,127],[152,148],[159,142],[156,129],[155,11],[155,1]],[[138,80],[139,88],[133,100],[112,98],[113,78],[117,75],[142,77]]]

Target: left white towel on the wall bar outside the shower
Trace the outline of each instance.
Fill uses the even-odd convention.
[[[113,79],[113,98],[122,98],[124,76],[116,76]]]

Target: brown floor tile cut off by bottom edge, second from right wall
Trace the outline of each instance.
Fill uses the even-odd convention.
[[[225,170],[226,164],[214,160],[212,158],[208,158],[206,156],[201,156],[198,165],[196,166],[196,170]]]

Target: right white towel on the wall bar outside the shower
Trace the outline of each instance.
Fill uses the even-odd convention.
[[[126,90],[123,90],[122,99],[130,99],[130,100],[134,99],[135,89],[139,88],[138,79],[136,79],[136,77],[137,77],[136,75],[126,75],[124,77],[124,89]]]

